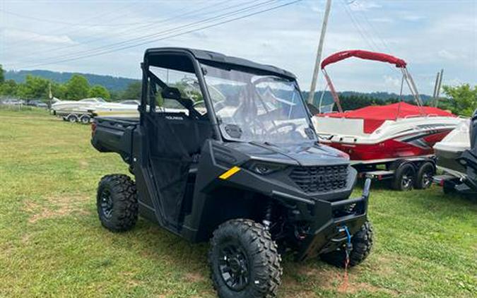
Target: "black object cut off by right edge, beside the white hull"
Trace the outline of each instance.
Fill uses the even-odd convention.
[[[467,177],[464,179],[464,183],[474,191],[477,191],[477,109],[473,112],[469,133],[471,148],[465,150],[457,160],[467,168]]]

